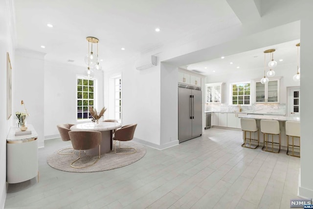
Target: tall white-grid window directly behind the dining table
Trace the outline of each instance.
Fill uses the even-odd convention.
[[[77,76],[77,120],[89,119],[89,106],[95,104],[95,80]]]

